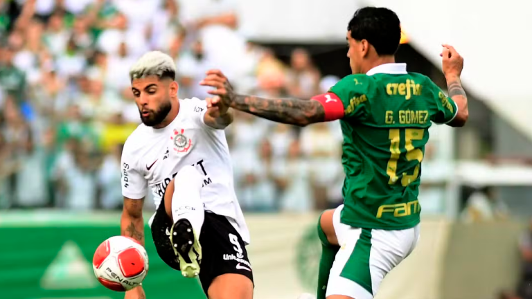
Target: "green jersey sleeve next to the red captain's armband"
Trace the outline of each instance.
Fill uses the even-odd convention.
[[[329,89],[342,102],[343,118],[363,118],[368,112],[368,91],[371,80],[367,75],[348,75]]]

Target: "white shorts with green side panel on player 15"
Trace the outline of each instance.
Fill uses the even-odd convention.
[[[340,223],[343,208],[332,216],[341,247],[330,269],[326,296],[373,299],[384,276],[414,251],[419,224],[405,230],[353,228]]]

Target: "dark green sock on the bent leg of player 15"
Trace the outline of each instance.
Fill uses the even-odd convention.
[[[321,216],[318,219],[318,236],[321,241],[321,260],[319,260],[317,299],[325,299],[327,282],[329,281],[329,272],[332,268],[332,263],[335,262],[336,253],[339,251],[340,246],[329,243],[327,236],[323,233],[323,229],[321,229],[320,222]]]

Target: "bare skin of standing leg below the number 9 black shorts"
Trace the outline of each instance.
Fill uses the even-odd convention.
[[[209,299],[252,299],[253,282],[244,275],[227,273],[216,277],[208,292]]]

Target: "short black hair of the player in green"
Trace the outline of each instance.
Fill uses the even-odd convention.
[[[360,8],[349,21],[347,30],[357,41],[366,39],[378,55],[394,55],[401,40],[399,17],[388,8]]]

